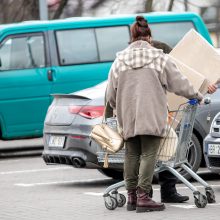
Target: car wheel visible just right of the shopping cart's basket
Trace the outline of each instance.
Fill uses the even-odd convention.
[[[195,134],[192,134],[191,141],[189,142],[189,148],[188,148],[188,158],[187,158],[191,169],[194,172],[197,172],[197,170],[200,167],[201,160],[202,160],[202,148],[201,144],[196,137]],[[180,174],[182,174],[186,179],[190,179],[191,175],[188,174],[185,170],[180,170]]]

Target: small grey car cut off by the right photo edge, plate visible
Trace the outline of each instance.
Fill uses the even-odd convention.
[[[214,117],[203,151],[208,169],[220,174],[220,112]]]

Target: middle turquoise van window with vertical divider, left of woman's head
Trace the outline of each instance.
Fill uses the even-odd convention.
[[[113,61],[130,40],[128,26],[56,32],[61,65]]]

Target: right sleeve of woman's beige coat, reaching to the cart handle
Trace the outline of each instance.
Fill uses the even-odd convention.
[[[203,99],[199,91],[195,91],[189,80],[178,70],[176,64],[168,58],[162,73],[162,84],[169,92],[183,96],[187,99],[196,98],[199,101]]]

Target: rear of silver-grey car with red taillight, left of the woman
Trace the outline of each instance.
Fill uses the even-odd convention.
[[[122,166],[104,169],[96,152],[101,148],[89,137],[92,126],[102,120],[107,82],[73,94],[56,94],[44,123],[43,159],[46,164],[95,168],[103,174],[122,178]]]

